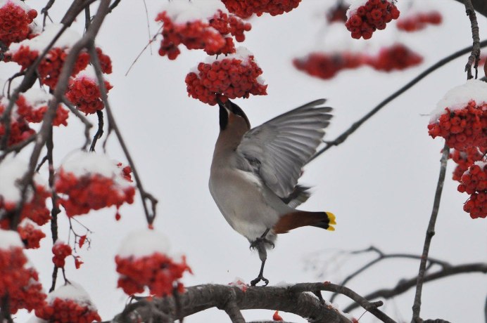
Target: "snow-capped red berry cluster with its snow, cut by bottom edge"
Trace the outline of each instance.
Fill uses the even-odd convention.
[[[35,315],[48,322],[100,322],[101,317],[81,286],[66,284],[47,296],[47,305],[35,310]]]

